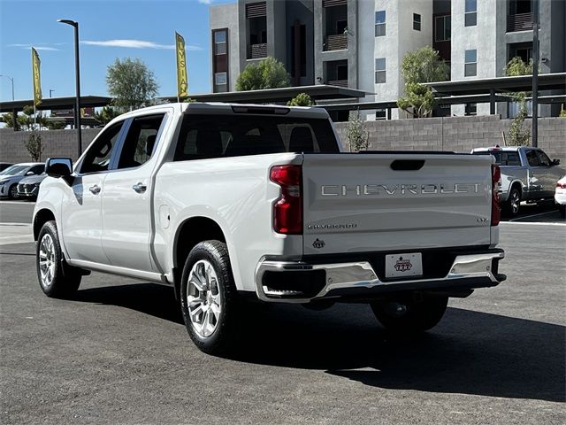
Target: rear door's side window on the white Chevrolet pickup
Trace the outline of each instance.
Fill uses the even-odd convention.
[[[157,143],[157,133],[164,121],[164,113],[134,118],[127,131],[118,168],[133,168],[149,161]]]

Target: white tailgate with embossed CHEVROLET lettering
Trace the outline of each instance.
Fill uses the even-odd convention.
[[[491,156],[305,154],[304,254],[490,243]]]

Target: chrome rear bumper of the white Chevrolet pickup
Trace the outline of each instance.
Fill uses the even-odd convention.
[[[316,298],[324,298],[331,290],[346,288],[373,288],[376,286],[399,285],[403,283],[426,283],[439,281],[458,281],[460,279],[473,279],[487,277],[493,283],[499,283],[492,272],[492,260],[503,259],[504,252],[486,252],[482,254],[458,255],[443,278],[413,279],[409,281],[382,282],[367,261],[335,263],[335,264],[309,264],[304,262],[262,260],[256,267],[256,294],[259,299],[266,302],[308,303]],[[302,271],[325,270],[325,287],[312,298],[285,298],[282,291],[270,291],[262,283],[266,271]],[[293,291],[289,291],[293,296]]]

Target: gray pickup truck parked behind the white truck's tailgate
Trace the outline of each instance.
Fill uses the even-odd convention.
[[[559,159],[551,160],[532,146],[493,146],[473,149],[471,153],[495,157],[501,168],[500,201],[510,217],[519,213],[521,201],[535,204],[554,199],[556,182],[566,174],[558,166]]]

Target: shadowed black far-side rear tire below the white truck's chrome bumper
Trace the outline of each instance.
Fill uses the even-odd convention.
[[[447,297],[408,296],[395,301],[376,301],[371,310],[387,330],[397,334],[416,334],[433,328],[446,312]]]

